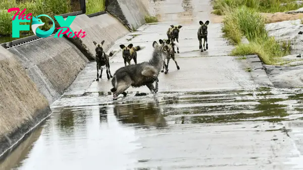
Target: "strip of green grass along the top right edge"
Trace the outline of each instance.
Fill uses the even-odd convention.
[[[212,4],[217,15],[224,15],[226,7],[234,9],[245,6],[263,13],[286,12],[303,7],[294,0],[214,0]]]

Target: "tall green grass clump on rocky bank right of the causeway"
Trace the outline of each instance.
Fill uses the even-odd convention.
[[[258,54],[261,60],[268,65],[274,65],[279,57],[290,53],[290,42],[278,42],[268,36],[265,29],[265,19],[255,9],[245,6],[226,8],[223,19],[223,37],[235,45],[231,55]],[[249,43],[242,43],[245,36]]]

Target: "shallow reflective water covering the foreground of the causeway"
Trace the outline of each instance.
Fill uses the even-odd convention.
[[[52,105],[43,128],[27,139],[35,142],[16,149],[1,169],[221,169],[235,164],[247,169],[277,163],[292,169],[285,162],[299,155],[289,153],[294,148],[285,125],[303,119],[302,97],[300,90],[269,88],[129,94],[114,102],[108,93],[64,95]]]

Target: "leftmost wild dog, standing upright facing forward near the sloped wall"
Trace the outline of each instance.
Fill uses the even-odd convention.
[[[96,43],[95,41],[93,41],[94,45],[95,45],[95,51],[96,51],[96,56],[95,56],[95,60],[97,63],[97,79],[96,81],[99,81],[99,78],[102,78],[102,72],[103,72],[103,66],[106,66],[106,74],[107,74],[107,78],[110,79],[113,78],[111,71],[110,71],[110,60],[109,60],[109,56],[103,51],[103,44],[104,44],[105,40],[103,40],[101,43]],[[110,56],[113,56],[116,52],[118,52],[118,50],[112,50],[110,52]],[[99,76],[99,70],[101,70],[100,76]]]

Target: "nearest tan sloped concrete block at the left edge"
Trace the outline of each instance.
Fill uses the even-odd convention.
[[[51,111],[14,54],[0,46],[0,158]],[[15,145],[16,144],[16,145]]]

